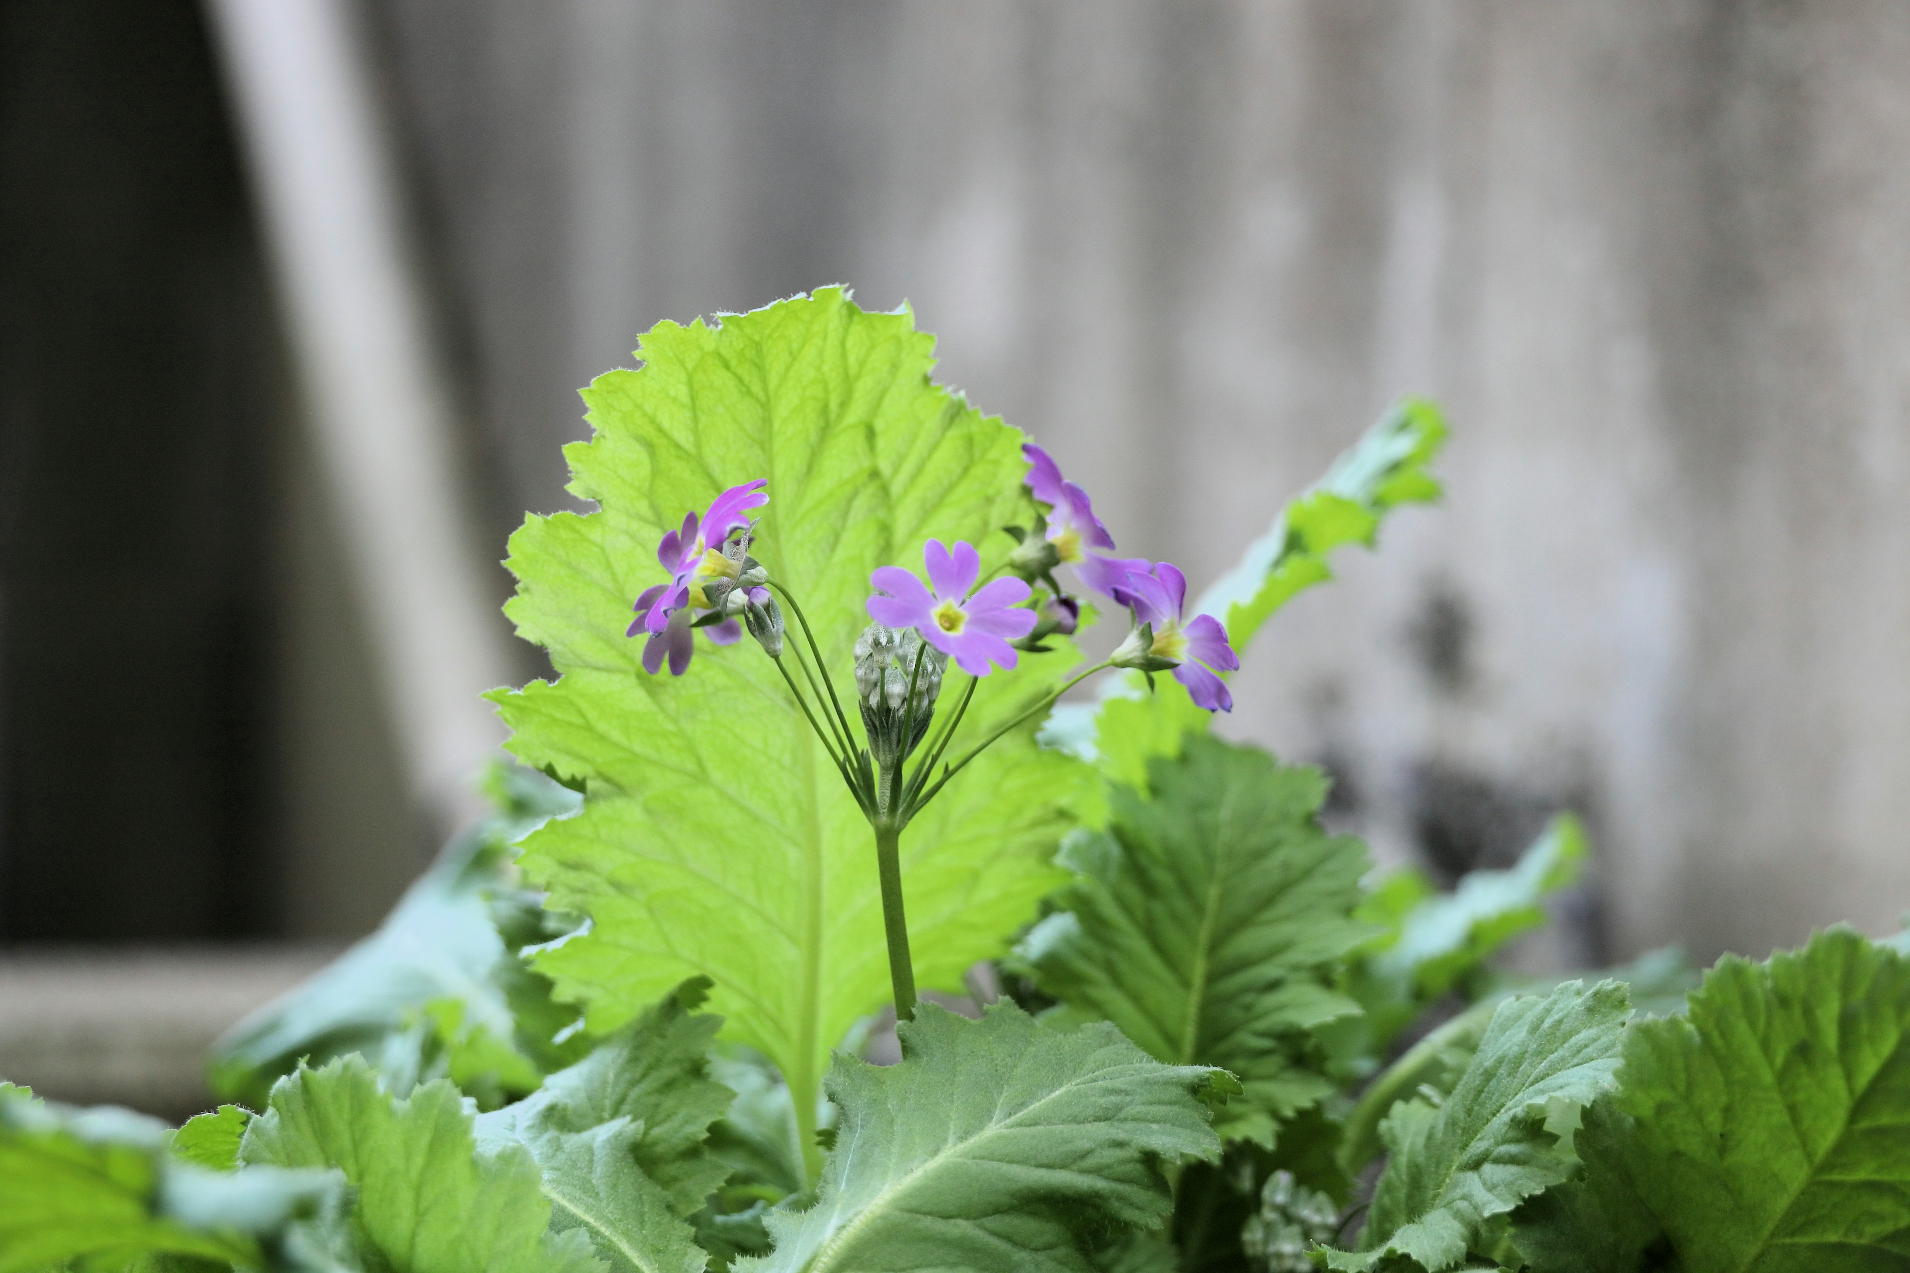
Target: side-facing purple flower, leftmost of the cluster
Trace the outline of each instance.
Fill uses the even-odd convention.
[[[690,668],[690,655],[695,653],[690,632],[697,620],[695,611],[712,609],[705,586],[716,580],[733,584],[743,573],[751,527],[747,513],[770,502],[762,490],[766,485],[768,479],[758,477],[730,487],[716,496],[703,517],[686,513],[682,529],[665,532],[657,544],[657,561],[670,573],[670,582],[644,590],[636,599],[636,620],[625,632],[625,636],[649,634],[644,645],[644,670],[651,676],[663,666],[665,657],[670,660],[670,676],[682,676]],[[730,532],[737,529],[745,531],[743,540],[732,544]],[[743,628],[730,618],[705,628],[705,634],[716,645],[735,645],[743,637]]]

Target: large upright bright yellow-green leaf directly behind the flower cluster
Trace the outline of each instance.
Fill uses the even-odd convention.
[[[665,323],[638,353],[642,370],[590,386],[596,435],[565,449],[571,490],[598,511],[531,517],[510,540],[508,613],[562,674],[495,695],[510,748],[590,794],[525,842],[550,903],[590,916],[537,966],[596,1031],[712,977],[726,1031],[781,1067],[808,1124],[829,1050],[888,998],[869,826],[753,641],[699,643],[686,676],[647,676],[630,605],[661,578],[667,529],[768,479],[753,552],[850,685],[871,571],[919,563],[930,536],[976,544],[984,569],[1012,550],[993,531],[1028,508],[1022,435],[928,380],[932,338],[907,313],[865,313],[840,288],[720,326]],[[795,615],[791,628],[796,641]],[[989,676],[963,737],[986,737],[1070,660],[1022,655]],[[944,704],[957,693],[945,685]],[[1049,859],[1087,783],[1029,725],[915,819],[902,865],[921,985],[959,987],[1056,884]]]

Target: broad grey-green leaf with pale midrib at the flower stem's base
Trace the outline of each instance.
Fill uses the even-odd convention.
[[[821,1195],[770,1212],[775,1252],[739,1271],[1087,1273],[1096,1231],[1167,1218],[1163,1164],[1219,1155],[1213,1071],[1161,1065],[1112,1025],[924,1004],[900,1036],[900,1065],[838,1055]]]

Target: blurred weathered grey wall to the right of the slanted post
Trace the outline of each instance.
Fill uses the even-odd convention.
[[[638,330],[833,281],[1196,582],[1427,391],[1448,506],[1263,636],[1230,729],[1331,762],[1394,859],[1583,807],[1593,954],[1910,908],[1900,4],[376,23],[512,515]]]

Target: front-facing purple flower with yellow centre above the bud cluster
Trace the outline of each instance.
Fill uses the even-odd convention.
[[[881,590],[869,597],[869,618],[890,628],[915,628],[968,676],[987,676],[989,660],[1012,668],[1016,655],[1008,641],[1018,641],[1035,626],[1033,611],[1014,609],[1028,599],[1028,584],[997,578],[970,597],[968,590],[982,574],[982,557],[972,544],[957,542],[949,553],[942,540],[928,540],[923,557],[934,592],[923,588],[911,571],[884,565],[869,576]]]

